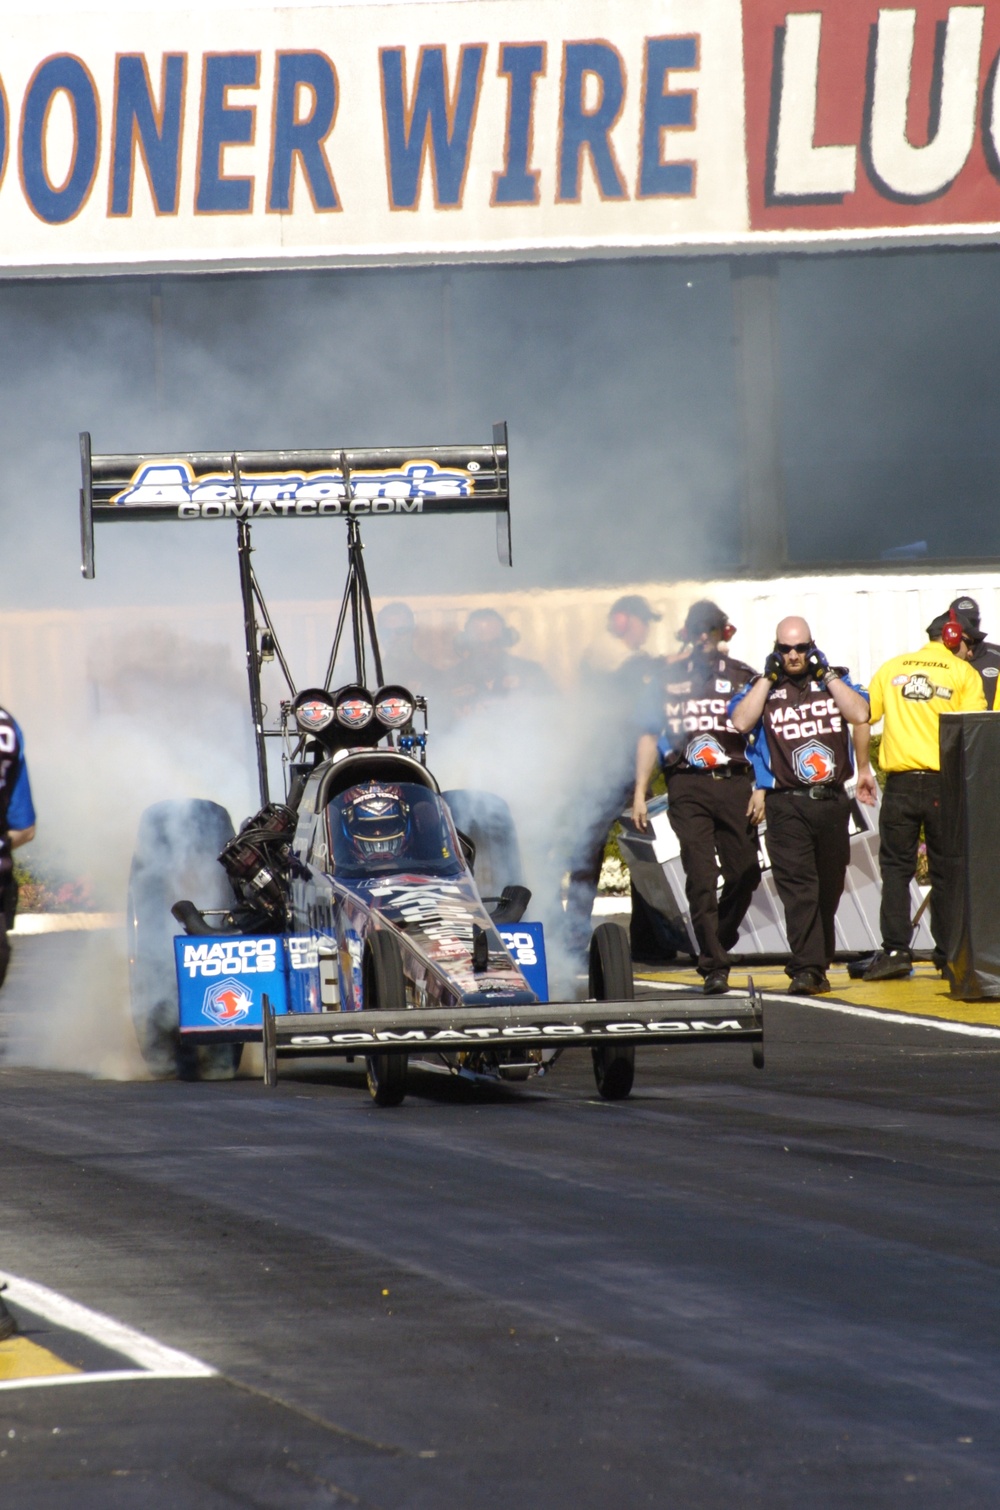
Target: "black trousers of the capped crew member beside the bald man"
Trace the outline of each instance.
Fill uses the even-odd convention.
[[[668,778],[668,817],[681,846],[684,889],[698,939],[698,969],[707,975],[728,968],[757,883],[757,829],[746,817],[754,785],[749,772],[713,778],[678,770]],[[718,855],[718,864],[716,864]],[[719,891],[722,870],[722,895]]]

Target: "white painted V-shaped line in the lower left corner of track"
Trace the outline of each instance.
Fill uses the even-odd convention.
[[[56,1290],[36,1285],[32,1279],[21,1279],[18,1274],[0,1271],[0,1284],[6,1284],[5,1299],[14,1306],[24,1306],[32,1315],[44,1317],[54,1326],[66,1332],[79,1332],[100,1342],[101,1347],[113,1353],[130,1357],[139,1367],[131,1370],[106,1370],[103,1373],[86,1374],[53,1374],[38,1379],[0,1380],[0,1389],[24,1389],[26,1386],[41,1388],[42,1385],[95,1383],[119,1379],[211,1379],[218,1373],[190,1353],[181,1353],[175,1347],[157,1342],[145,1332],[136,1332],[124,1321],[107,1317],[101,1311],[91,1311],[68,1296],[60,1296]]]

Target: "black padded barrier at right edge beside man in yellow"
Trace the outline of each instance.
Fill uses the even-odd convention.
[[[1000,998],[1000,714],[941,716],[941,820],[952,995]]]

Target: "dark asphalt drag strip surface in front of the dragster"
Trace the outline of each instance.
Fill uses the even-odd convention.
[[[0,1504],[992,1510],[998,1074],[790,1003],[624,1104],[2,1068],[0,1267],[219,1377],[0,1394]]]

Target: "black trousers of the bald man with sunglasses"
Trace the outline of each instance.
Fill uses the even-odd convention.
[[[767,853],[784,908],[792,957],[785,974],[825,974],[835,953],[834,918],[850,859],[850,800],[843,791],[769,791]]]

